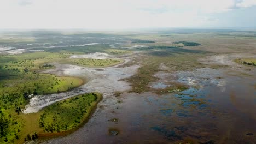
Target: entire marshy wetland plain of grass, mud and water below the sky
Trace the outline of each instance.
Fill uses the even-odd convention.
[[[0,143],[256,142],[256,32],[12,33]]]

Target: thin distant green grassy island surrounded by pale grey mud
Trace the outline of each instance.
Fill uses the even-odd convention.
[[[90,67],[109,67],[123,62],[121,59],[91,59],[91,58],[74,58],[63,61],[62,63],[70,63],[74,65],[90,66]]]

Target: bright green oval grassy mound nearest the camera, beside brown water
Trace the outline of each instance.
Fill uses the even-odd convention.
[[[71,130],[88,119],[100,99],[101,94],[89,93],[59,101],[43,110],[39,125],[45,133]]]

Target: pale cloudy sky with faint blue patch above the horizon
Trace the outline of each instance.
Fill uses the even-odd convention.
[[[255,28],[256,0],[0,0],[0,29]]]

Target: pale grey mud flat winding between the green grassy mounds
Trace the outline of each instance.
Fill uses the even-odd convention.
[[[75,65],[67,64],[55,64],[55,69],[48,69],[41,71],[41,73],[49,73],[56,75],[69,75],[84,77],[88,80],[85,85],[73,89],[72,91],[65,93],[38,95],[30,100],[30,104],[26,105],[24,113],[38,112],[43,107],[73,97],[74,95],[99,92],[103,94],[103,97],[113,94],[115,91],[127,91],[130,89],[129,83],[120,81],[136,73],[136,69],[139,65],[133,65],[131,67],[117,68],[118,65],[108,68],[86,68]]]

